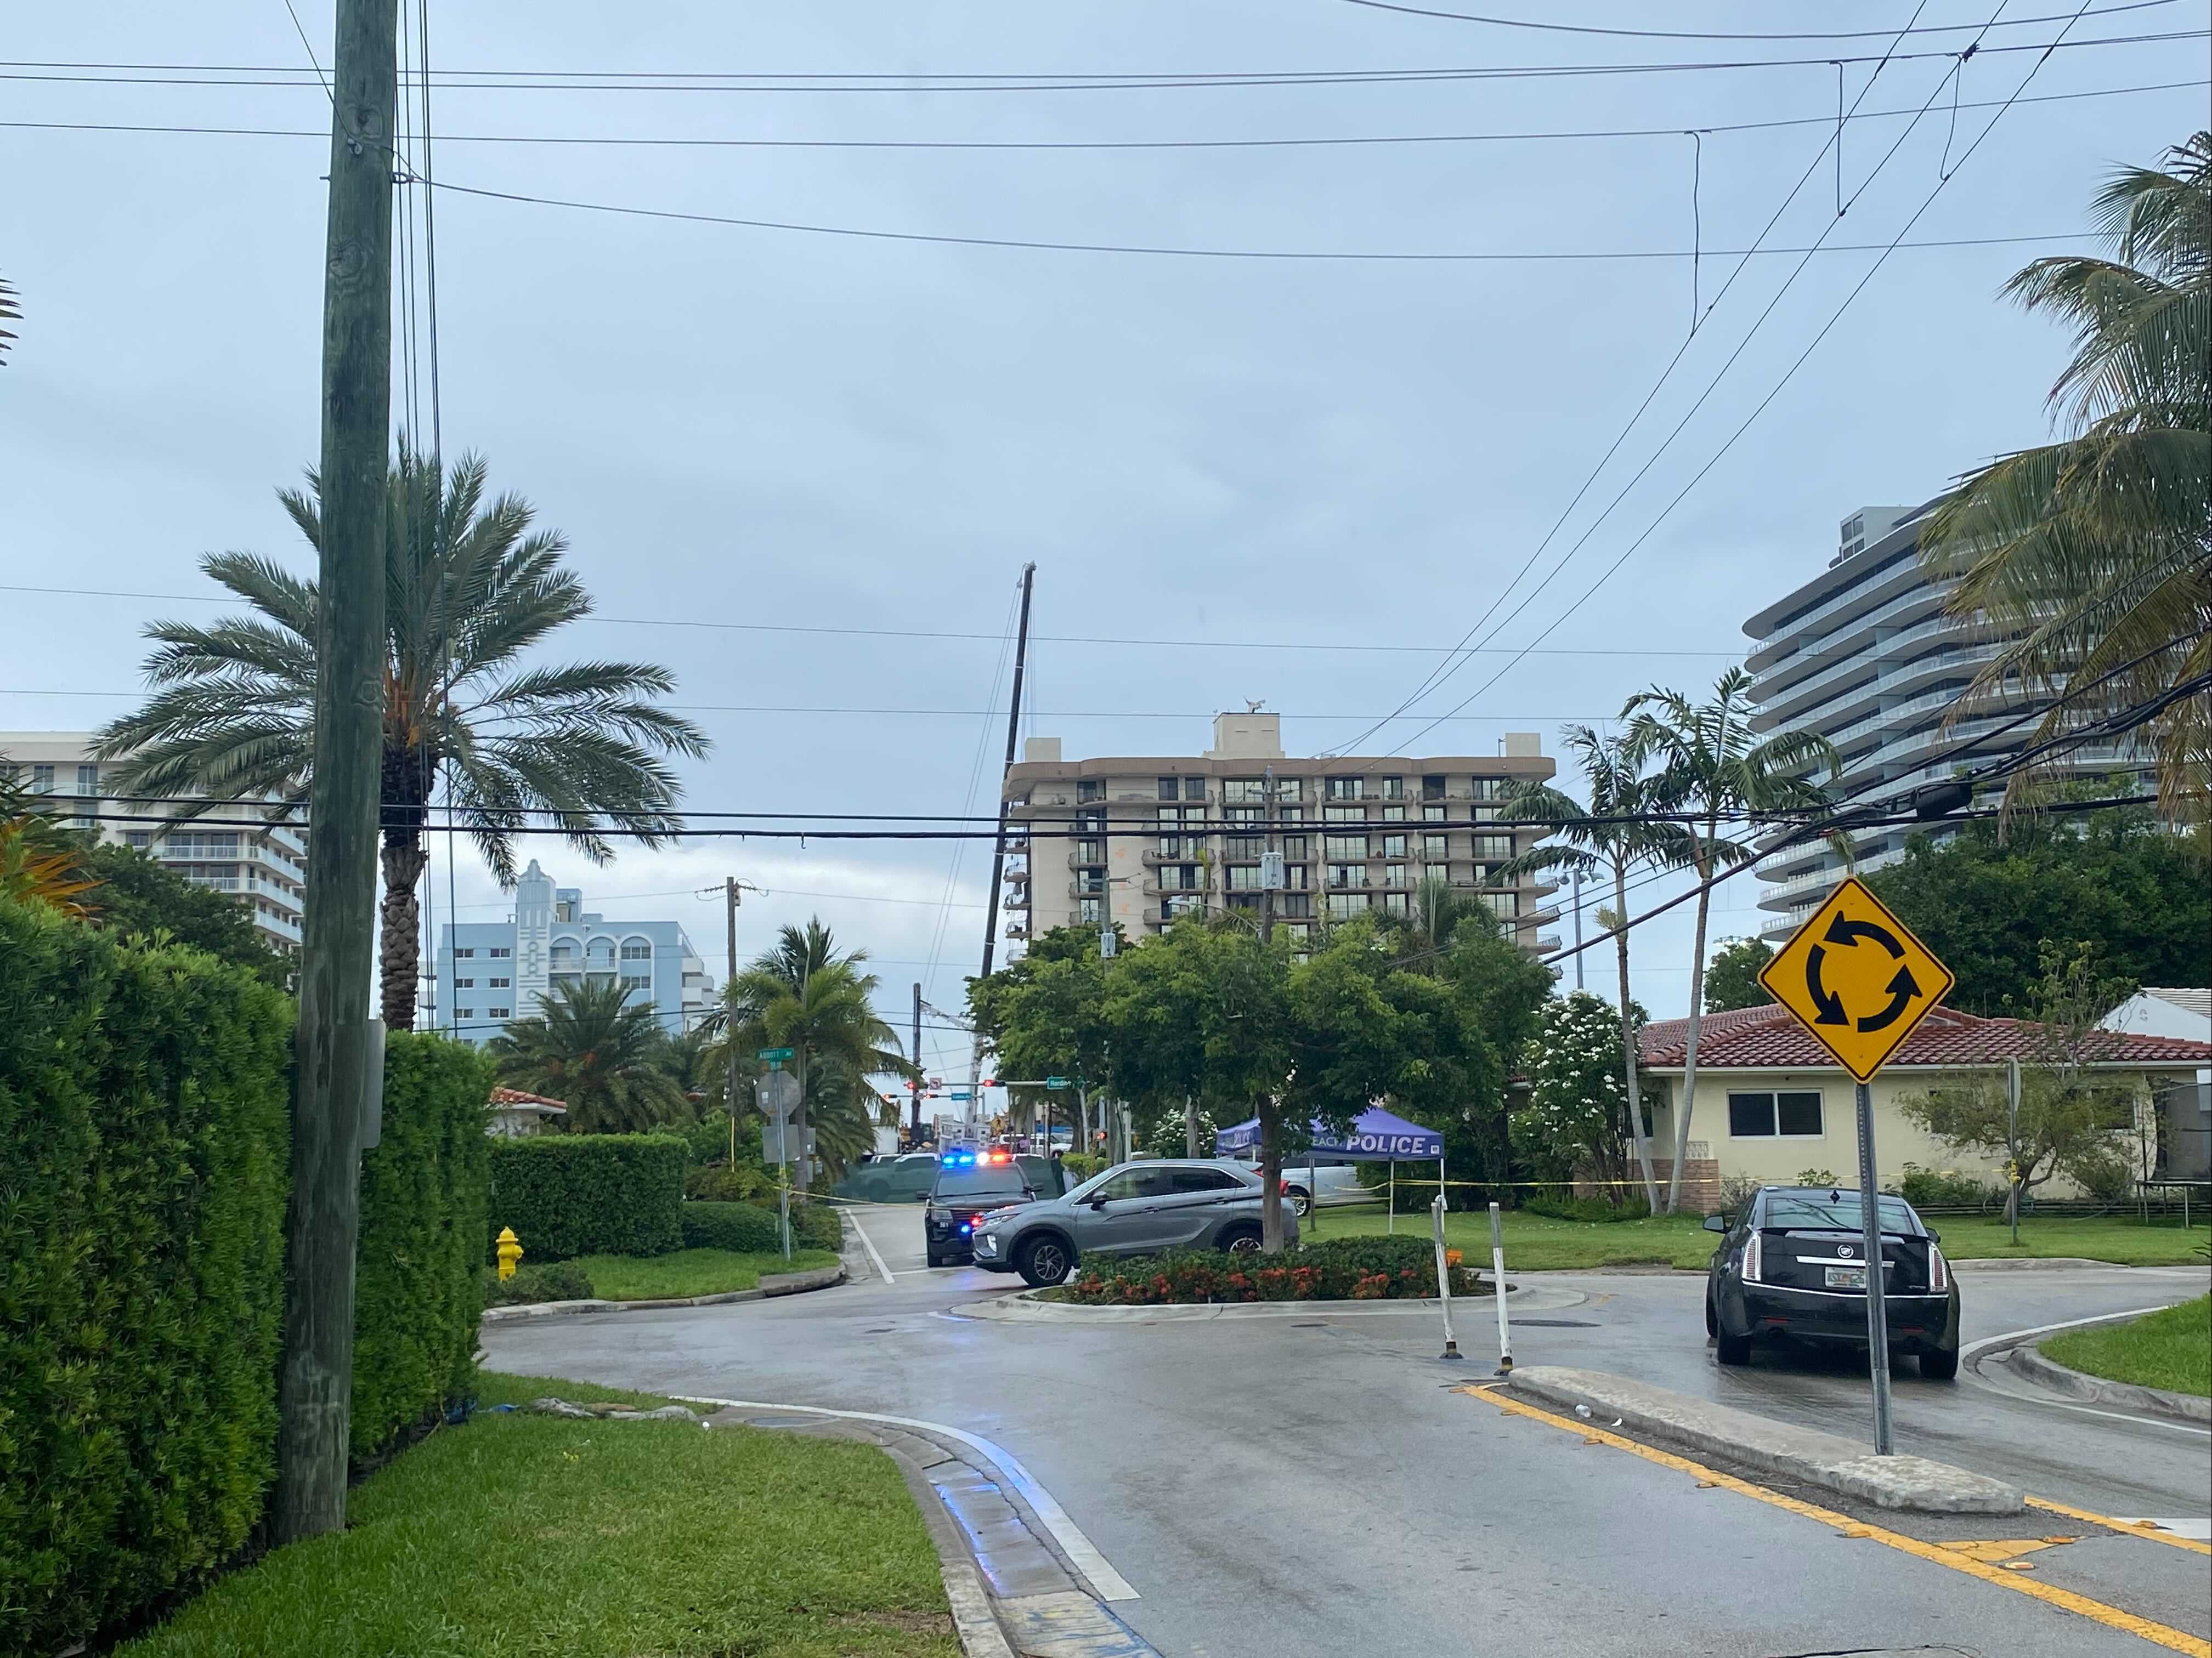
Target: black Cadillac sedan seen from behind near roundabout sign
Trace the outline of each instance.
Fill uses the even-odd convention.
[[[1905,1198],[1876,1200],[1889,1351],[1920,1375],[1958,1375],[1958,1278]],[[1721,1234],[1705,1278],[1705,1333],[1721,1364],[1750,1364],[1754,1340],[1867,1346],[1865,1207],[1858,1192],[1761,1187]]]

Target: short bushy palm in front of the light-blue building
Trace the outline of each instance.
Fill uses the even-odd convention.
[[[568,1127],[586,1134],[690,1119],[690,1101],[661,1063],[664,1048],[650,1001],[630,1001],[622,984],[593,979],[564,979],[538,997],[535,1019],[515,1019],[491,1039],[500,1081],[562,1101]]]

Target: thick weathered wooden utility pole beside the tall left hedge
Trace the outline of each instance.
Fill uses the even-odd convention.
[[[299,1081],[276,1543],[345,1525],[354,1249],[372,1068],[376,838],[385,712],[385,478],[392,466],[392,126],[398,0],[338,0],[323,250],[321,606],[314,623],[314,856],[301,935]]]

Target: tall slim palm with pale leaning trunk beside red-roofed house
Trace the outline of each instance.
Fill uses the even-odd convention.
[[[1697,1105],[1697,1032],[1705,1017],[1705,922],[1712,913],[1712,878],[1723,867],[1759,856],[1750,836],[1721,833],[1723,818],[1774,816],[1827,805],[1827,789],[1812,780],[1814,767],[1836,776],[1836,745],[1814,732],[1752,734],[1752,676],[1730,668],[1712,685],[1710,703],[1692,703],[1681,692],[1648,690],[1621,707],[1628,730],[1621,747],[1644,769],[1659,760],[1661,798],[1694,814],[1686,825],[1683,869],[1697,873],[1697,931],[1690,944],[1690,1028],[1683,1046],[1681,1112],[1674,1119],[1674,1167],[1668,1169],[1666,1211],[1681,1205],[1681,1165],[1690,1156],[1690,1112]],[[1849,842],[1834,840],[1849,858]]]

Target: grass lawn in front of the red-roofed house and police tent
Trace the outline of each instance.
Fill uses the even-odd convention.
[[[1312,1220],[1301,1225],[1305,1238],[1352,1238],[1383,1231],[1380,1205],[1365,1209],[1323,1209],[1318,1234]],[[1509,1209],[1504,1214],[1506,1271],[1562,1271],[1573,1267],[1697,1267],[1712,1258],[1717,1238],[1703,1229],[1703,1216],[1652,1216],[1650,1220],[1553,1220],[1548,1216]],[[1989,1260],[1995,1256],[2084,1256],[2117,1260],[2128,1267],[2185,1267],[2201,1260],[2197,1249],[2212,1238],[2208,1227],[2183,1231],[2172,1220],[2141,1225],[2130,1216],[2095,1220],[2022,1220],[2020,1247],[2013,1249],[2002,1216],[1936,1216],[1929,1220],[1942,1234],[1942,1251],[1951,1260]],[[1398,1231],[1427,1236],[1429,1216],[1398,1216]],[[1489,1262],[1491,1220],[1486,1214],[1453,1211],[1444,1216],[1444,1238],[1467,1251],[1469,1262]]]

